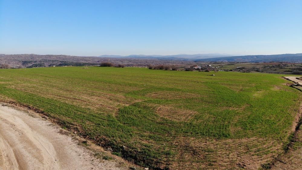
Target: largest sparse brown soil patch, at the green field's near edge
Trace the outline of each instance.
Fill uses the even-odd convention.
[[[178,162],[172,169],[258,169],[283,152],[278,141],[246,139],[177,139]]]

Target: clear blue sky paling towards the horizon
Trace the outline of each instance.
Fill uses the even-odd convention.
[[[302,53],[302,0],[0,0],[0,54]]]

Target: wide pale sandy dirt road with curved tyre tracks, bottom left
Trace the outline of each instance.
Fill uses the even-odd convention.
[[[0,105],[0,170],[126,169],[98,160],[53,123]]]

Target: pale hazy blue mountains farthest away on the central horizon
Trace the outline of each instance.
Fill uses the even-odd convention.
[[[205,59],[205,58],[214,58],[214,57],[231,57],[234,55],[231,54],[220,54],[220,53],[212,53],[212,54],[177,54],[177,55],[101,55],[98,57],[109,57],[109,58],[148,58],[148,59],[169,59],[169,60],[195,60],[195,59]]]

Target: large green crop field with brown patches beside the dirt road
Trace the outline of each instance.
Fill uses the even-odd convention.
[[[0,100],[39,111],[152,169],[257,169],[284,152],[302,101],[281,76],[137,67],[2,69]]]

